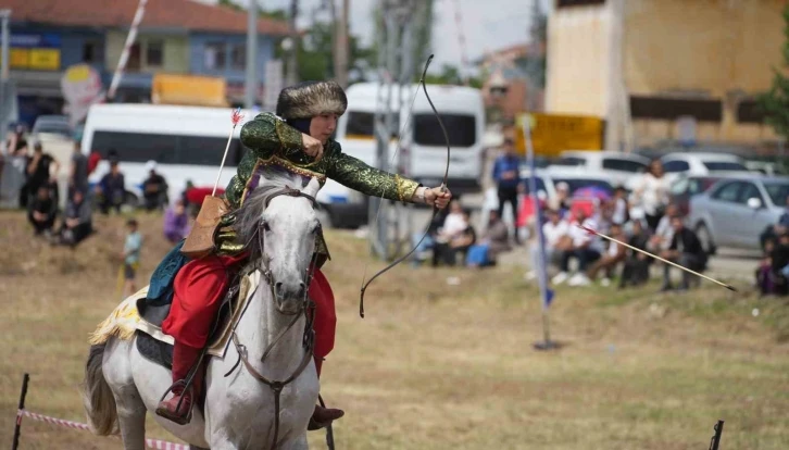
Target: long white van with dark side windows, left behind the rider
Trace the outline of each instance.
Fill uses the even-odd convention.
[[[148,177],[146,163],[156,161],[159,172],[167,180],[168,197],[175,200],[187,180],[197,187],[213,187],[222,154],[230,132],[229,108],[176,107],[160,104],[95,104],[85,124],[82,150],[97,150],[102,161],[89,178],[98,183],[109,171],[107,161],[115,152],[125,176],[127,199],[141,201],[142,182]],[[243,111],[243,122],[256,112]],[[241,124],[236,127],[225,168],[220,178],[224,189],[236,174],[236,167],[249,151],[239,139]],[[330,205],[345,192],[325,186],[317,196],[323,205]]]

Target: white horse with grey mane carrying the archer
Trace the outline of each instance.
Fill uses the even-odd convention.
[[[151,412],[191,448],[308,448],[306,428],[317,401],[318,379],[312,350],[303,345],[303,309],[320,233],[312,200],[318,189],[314,178],[303,190],[299,177],[270,178],[239,211],[240,227],[248,229],[237,229],[260,246],[260,284],[238,322],[237,345],[229,346],[224,359],[208,361],[204,416],[198,405],[191,422],[183,426],[155,415],[172,383],[170,371],[145,359],[136,339],[111,338],[91,347],[85,373],[85,408],[96,434],[109,435],[120,427],[124,448],[142,450],[146,413]],[[246,348],[246,361],[234,371],[239,348]],[[275,391],[261,377],[285,382],[293,375],[281,388],[276,411]]]

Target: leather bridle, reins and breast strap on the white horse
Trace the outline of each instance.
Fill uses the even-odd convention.
[[[309,196],[298,189],[284,187],[268,197],[266,200],[265,207],[268,208],[268,203],[272,201],[272,199],[279,197],[279,196],[289,196],[289,197],[303,197],[312,203],[313,209],[317,205],[317,201],[314,197]],[[259,260],[259,263],[255,264],[255,267],[253,268],[261,272],[261,275],[268,284],[268,288],[271,289],[272,299],[273,301],[277,301],[277,295],[274,290],[275,286],[275,278],[274,274],[270,267],[271,261],[268,257],[265,254],[265,234],[260,233],[260,227],[263,227],[265,225],[264,222],[262,222],[259,226],[258,232],[255,233],[258,235],[258,240],[260,243],[260,251],[261,251],[261,258]],[[283,311],[279,309],[279,305],[277,304],[277,311],[280,314],[285,315],[292,315],[292,320],[288,323],[288,326],[286,326],[277,336],[272,339],[271,343],[265,348],[263,351],[263,357],[261,357],[261,364],[265,363],[266,358],[271,354],[271,352],[274,350],[274,347],[285,337],[285,335],[290,332],[290,329],[296,326],[297,322],[299,322],[299,318],[301,316],[304,316],[305,324],[304,324],[304,334],[302,338],[302,346],[304,347],[304,357],[301,359],[301,362],[299,363],[299,366],[293,371],[290,376],[283,380],[276,380],[276,379],[270,379],[263,374],[261,374],[254,366],[249,362],[249,353],[247,351],[247,347],[240,342],[238,335],[236,334],[236,328],[233,329],[233,345],[236,347],[236,352],[238,353],[238,361],[236,361],[236,364],[234,364],[233,368],[230,368],[226,374],[225,377],[229,376],[236,367],[238,367],[239,363],[243,363],[243,366],[247,367],[247,371],[252,375],[255,379],[263,383],[264,385],[268,386],[268,388],[274,393],[274,437],[272,438],[272,449],[275,449],[277,447],[277,440],[279,438],[279,409],[280,409],[280,402],[279,398],[283,392],[283,389],[285,386],[289,385],[296,378],[301,375],[302,372],[306,368],[306,366],[310,364],[310,361],[313,359],[313,351],[315,349],[315,332],[312,328],[313,321],[315,318],[315,302],[310,299],[310,296],[308,295],[310,290],[310,284],[312,283],[312,278],[315,274],[315,266],[317,262],[317,253],[313,252],[313,257],[310,260],[310,265],[306,267],[306,273],[304,275],[304,297],[302,301],[299,303],[299,309],[297,311],[290,312],[290,311]],[[247,302],[247,307],[249,307],[249,302]],[[245,311],[241,312],[241,316],[243,316]],[[241,317],[239,317],[238,322],[236,323],[236,326],[238,326],[238,323],[240,322]]]

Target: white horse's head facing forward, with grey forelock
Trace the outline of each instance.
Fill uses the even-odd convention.
[[[315,178],[303,189],[299,185],[264,184],[239,212],[241,237],[262,253],[263,270],[283,313],[303,308],[315,238],[321,233],[313,204],[321,185]]]

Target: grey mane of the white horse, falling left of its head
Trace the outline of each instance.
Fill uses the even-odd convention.
[[[236,230],[239,241],[247,246],[258,234],[263,211],[274,193],[283,188],[304,189],[302,176],[287,172],[272,171],[266,173],[265,178],[261,178],[261,185],[254,188],[243,200],[241,207],[236,210],[236,223],[233,228]]]

